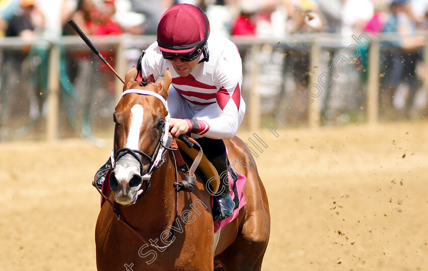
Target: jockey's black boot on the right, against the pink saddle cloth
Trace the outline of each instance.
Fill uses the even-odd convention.
[[[226,219],[233,214],[235,202],[232,200],[229,188],[229,160],[223,140],[211,138],[198,138],[198,143],[220,177],[219,191],[213,195],[212,219],[214,222]]]

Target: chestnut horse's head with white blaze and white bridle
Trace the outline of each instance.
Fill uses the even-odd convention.
[[[171,84],[167,69],[160,83],[148,78],[136,81],[137,68],[125,76],[123,94],[113,115],[114,169],[110,173],[110,187],[115,201],[122,205],[136,202],[138,195],[148,189],[151,170],[157,166],[168,136],[168,108],[166,99]],[[165,136],[166,133],[166,136]]]

